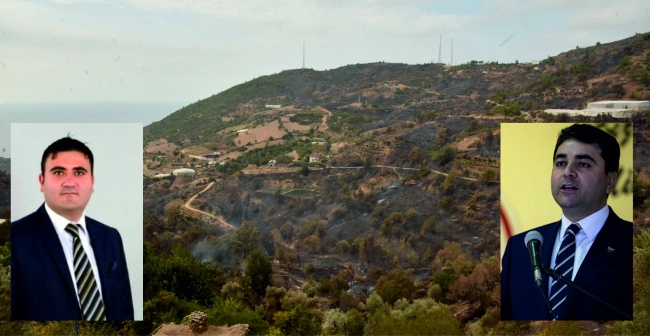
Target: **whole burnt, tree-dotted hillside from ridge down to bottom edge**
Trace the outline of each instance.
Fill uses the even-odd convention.
[[[650,100],[649,71],[647,33],[539,64],[288,70],[188,105],[144,130],[145,315],[199,304],[245,312],[219,323],[253,333],[336,333],[335,314],[363,331],[380,311],[364,307],[387,303],[438,309],[447,333],[537,333],[498,321],[499,124],[629,122],[543,110]],[[650,227],[648,116],[634,118],[638,183],[623,190],[637,233]],[[181,167],[196,176],[153,177]]]

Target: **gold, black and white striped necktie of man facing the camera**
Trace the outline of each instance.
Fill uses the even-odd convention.
[[[73,240],[74,275],[77,281],[82,318],[86,321],[104,321],[106,320],[104,303],[99,295],[93,267],[81,245],[79,228],[74,224],[68,224],[65,230],[72,235]]]

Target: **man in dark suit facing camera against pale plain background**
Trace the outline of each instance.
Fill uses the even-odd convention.
[[[12,319],[133,319],[120,234],[84,213],[93,164],[90,149],[70,137],[43,153],[45,203],[11,223]]]

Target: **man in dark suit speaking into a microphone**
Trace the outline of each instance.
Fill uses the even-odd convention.
[[[562,208],[562,219],[534,230],[543,237],[543,266],[558,270],[631,316],[632,223],[620,219],[607,205],[619,157],[618,142],[607,132],[585,124],[563,129],[551,174],[551,192]],[[525,243],[527,234],[511,237],[502,258],[501,319],[628,319],[546,274],[538,287]]]

